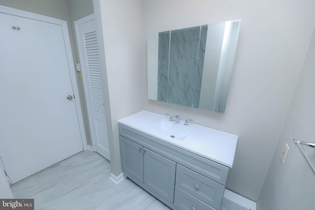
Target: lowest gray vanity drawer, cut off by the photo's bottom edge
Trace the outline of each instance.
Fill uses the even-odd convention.
[[[216,210],[178,187],[175,187],[174,205],[180,210]]]

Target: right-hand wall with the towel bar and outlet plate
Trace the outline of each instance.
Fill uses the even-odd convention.
[[[293,100],[284,123],[266,180],[259,195],[259,210],[314,209],[315,176],[294,138],[315,143],[315,33],[306,56]],[[290,147],[284,165],[280,156],[284,145]],[[306,149],[306,148],[305,148]],[[315,165],[315,150],[306,149]]]

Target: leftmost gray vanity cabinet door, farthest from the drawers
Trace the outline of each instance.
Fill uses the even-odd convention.
[[[143,147],[124,137],[119,139],[124,176],[143,183]]]

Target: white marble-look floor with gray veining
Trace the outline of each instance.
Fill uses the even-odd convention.
[[[12,186],[15,198],[33,198],[35,210],[169,210],[130,180],[115,184],[110,162],[80,152]]]

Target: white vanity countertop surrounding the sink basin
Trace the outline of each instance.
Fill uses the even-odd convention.
[[[232,168],[238,136],[196,125],[190,123],[190,121],[187,128],[192,131],[184,140],[178,140],[170,136],[162,135],[158,132],[153,132],[152,129],[150,129],[159,121],[168,119],[169,117],[164,115],[141,111],[118,120],[118,122],[140,132],[154,136],[164,142]],[[184,126],[184,121],[181,121],[181,125]]]

